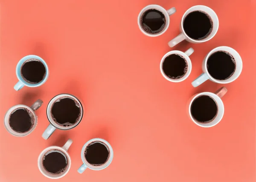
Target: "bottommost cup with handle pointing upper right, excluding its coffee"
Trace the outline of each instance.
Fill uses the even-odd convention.
[[[67,150],[69,149],[72,142],[73,141],[71,139],[68,139],[63,147],[50,146],[50,147],[47,147],[46,149],[44,149],[40,153],[40,155],[38,156],[38,168],[44,176],[46,176],[47,178],[50,178],[50,179],[58,179],[58,178],[62,178],[63,176],[65,176],[68,173],[68,171],[70,170],[70,166],[71,166],[71,158],[70,158],[69,153],[67,153]],[[51,153],[51,152],[56,152],[56,151],[61,153],[62,155],[64,155],[64,157],[67,160],[67,167],[65,168],[64,172],[58,173],[58,174],[53,174],[53,173],[48,172],[44,168],[43,161],[44,161],[44,156],[46,154]]]

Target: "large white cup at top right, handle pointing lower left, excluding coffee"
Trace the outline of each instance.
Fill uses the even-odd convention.
[[[202,11],[202,12],[205,12],[205,13],[209,14],[209,16],[212,19],[212,23],[213,23],[212,32],[210,33],[210,35],[208,35],[206,38],[204,38],[202,40],[195,40],[195,39],[190,38],[188,35],[186,35],[186,32],[184,31],[184,28],[183,28],[183,21],[184,21],[185,17],[189,13],[195,12],[195,11]],[[183,17],[182,17],[181,23],[180,23],[180,34],[177,37],[175,37],[174,39],[172,39],[171,41],[169,41],[168,45],[170,47],[173,47],[173,46],[177,45],[178,43],[180,43],[183,40],[186,40],[186,41],[191,42],[191,43],[203,43],[203,42],[206,42],[206,41],[212,39],[215,36],[215,34],[218,31],[218,26],[219,26],[218,16],[217,16],[217,14],[212,9],[210,9],[207,6],[202,6],[202,5],[192,6],[191,8],[189,8],[183,14]]]

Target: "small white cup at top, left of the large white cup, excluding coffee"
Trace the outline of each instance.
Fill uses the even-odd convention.
[[[166,25],[165,25],[165,27],[163,28],[163,30],[162,30],[161,32],[158,32],[158,33],[156,33],[156,34],[150,34],[150,33],[148,33],[148,32],[145,32],[144,29],[141,27],[140,19],[141,19],[143,13],[146,12],[148,9],[156,9],[156,10],[162,12],[163,15],[165,16],[165,18],[166,18]],[[151,4],[151,5],[146,6],[145,8],[143,8],[143,9],[140,11],[140,14],[139,14],[138,20],[137,20],[138,26],[139,26],[139,28],[140,28],[140,31],[141,31],[143,34],[148,35],[149,37],[157,37],[157,36],[159,36],[159,35],[162,35],[164,32],[166,32],[166,30],[167,30],[168,27],[169,27],[169,24],[170,24],[170,17],[169,17],[169,16],[171,16],[171,15],[174,14],[175,12],[176,12],[176,9],[175,9],[174,7],[171,8],[171,9],[169,9],[169,10],[166,10],[166,9],[164,9],[162,6],[159,6],[159,5],[156,5],[156,4]]]

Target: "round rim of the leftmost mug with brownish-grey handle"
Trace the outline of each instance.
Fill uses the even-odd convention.
[[[16,132],[15,130],[12,130],[10,129],[10,125],[8,124],[7,126],[7,122],[9,123],[9,116],[10,114],[12,113],[13,110],[15,110],[16,108],[19,108],[19,107],[23,107],[23,108],[26,108],[28,110],[31,111],[31,113],[33,114],[34,118],[35,118],[35,123],[34,125],[32,126],[32,128],[24,133],[19,133],[19,132]],[[32,131],[35,130],[35,127],[37,126],[37,123],[38,123],[38,118],[37,118],[37,115],[35,114],[35,111],[32,110],[31,107],[29,106],[26,106],[24,104],[17,104],[15,106],[12,106],[9,108],[9,110],[6,111],[5,113],[5,116],[4,116],[4,120],[3,120],[3,123],[4,123],[4,127],[6,128],[6,130],[8,131],[8,133],[10,133],[11,135],[13,136],[17,136],[17,137],[23,137],[23,136],[27,136],[29,135],[30,133],[32,133]]]

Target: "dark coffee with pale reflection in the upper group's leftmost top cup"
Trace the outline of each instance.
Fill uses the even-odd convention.
[[[142,15],[142,27],[151,34],[159,33],[163,30],[166,24],[166,18],[162,12],[156,9],[148,9]]]

